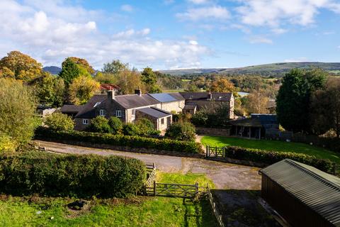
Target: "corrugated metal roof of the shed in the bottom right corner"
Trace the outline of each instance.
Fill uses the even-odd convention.
[[[340,226],[340,179],[309,165],[285,159],[260,170],[310,209]]]

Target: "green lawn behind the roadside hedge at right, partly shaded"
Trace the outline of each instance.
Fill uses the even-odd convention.
[[[277,140],[249,140],[244,138],[228,138],[224,136],[203,136],[201,143],[211,146],[238,146],[242,148],[255,148],[260,150],[274,150],[281,152],[303,153],[315,157],[329,159],[340,164],[340,155],[324,148],[305,143],[293,143]]]

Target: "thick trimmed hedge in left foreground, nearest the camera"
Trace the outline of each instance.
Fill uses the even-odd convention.
[[[145,165],[132,158],[41,151],[0,154],[0,192],[6,194],[127,197],[139,192],[145,179]]]

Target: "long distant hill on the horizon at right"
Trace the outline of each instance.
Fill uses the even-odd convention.
[[[239,68],[212,68],[212,69],[187,69],[187,70],[162,70],[160,72],[175,76],[188,74],[246,74],[246,75],[261,75],[264,77],[283,77],[283,75],[293,68],[308,69],[321,68],[333,74],[340,75],[340,62],[284,62],[273,63],[266,65],[253,65]]]

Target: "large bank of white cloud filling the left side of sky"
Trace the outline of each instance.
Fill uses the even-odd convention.
[[[44,2],[40,9],[35,0],[24,4],[0,1],[0,57],[20,50],[43,65],[60,65],[65,57],[77,56],[96,68],[113,59],[136,67],[170,68],[197,66],[203,56],[210,54],[209,48],[197,41],[150,38],[149,28],[108,35],[96,23],[101,12],[69,6],[63,0],[45,1],[57,10],[47,9]]]

